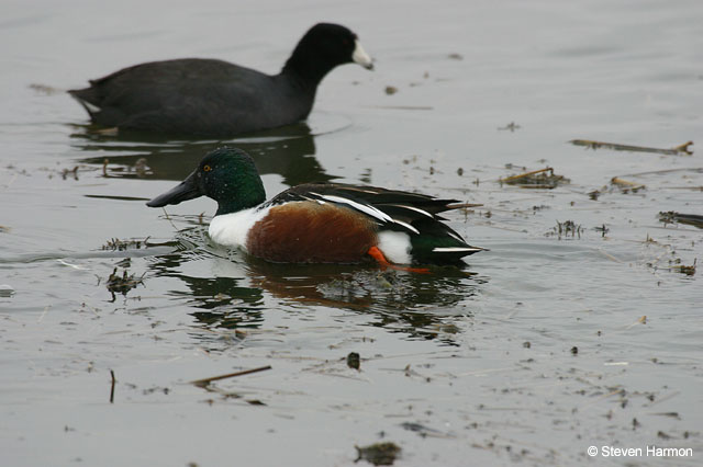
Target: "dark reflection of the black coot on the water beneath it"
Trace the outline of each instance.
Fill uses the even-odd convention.
[[[287,185],[328,181],[315,159],[314,135],[305,123],[289,125],[253,137],[230,140],[167,139],[144,133],[98,133],[91,126],[76,126],[71,135],[75,147],[100,153],[79,161],[103,166],[108,176],[183,180],[209,151],[235,146],[247,151],[259,173],[277,173]]]

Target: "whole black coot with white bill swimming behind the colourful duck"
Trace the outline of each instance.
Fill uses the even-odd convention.
[[[349,62],[373,68],[356,34],[321,23],[300,39],[278,75],[222,60],[185,58],[124,68],[68,93],[99,125],[233,136],[306,118],[317,84],[333,68]]]

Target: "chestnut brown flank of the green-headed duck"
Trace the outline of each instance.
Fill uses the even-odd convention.
[[[246,239],[250,254],[282,263],[358,263],[378,243],[366,216],[332,204],[297,202],[271,207]]]

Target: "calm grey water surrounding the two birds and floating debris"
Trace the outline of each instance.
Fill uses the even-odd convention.
[[[355,445],[381,441],[403,466],[700,465],[703,288],[700,267],[676,267],[700,264],[703,231],[657,219],[703,214],[699,1],[3,0],[0,13],[3,465],[350,466]],[[226,143],[255,156],[269,195],[337,180],[481,203],[448,215],[490,249],[464,271],[223,251],[207,238],[213,202],[168,217],[144,205],[223,141],[94,134],[55,92],[176,57],[277,72],[319,21],[359,34],[376,71],[338,68],[306,124]],[[546,166],[570,183],[498,182]],[[580,236],[555,235],[566,220]],[[142,243],[104,249],[115,238]],[[113,295],[115,267],[142,283]]]

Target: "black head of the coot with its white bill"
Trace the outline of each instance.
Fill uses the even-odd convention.
[[[339,24],[315,24],[300,39],[283,72],[295,72],[317,84],[334,67],[356,62],[373,69],[356,34]]]

